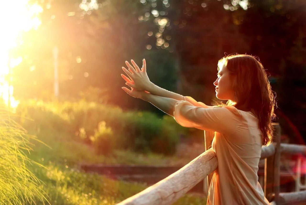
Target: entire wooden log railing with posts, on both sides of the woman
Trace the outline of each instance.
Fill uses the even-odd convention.
[[[280,143],[280,126],[273,123],[273,143],[263,146],[261,159],[265,159],[264,193],[271,204],[293,204],[306,202],[306,191],[280,193],[280,154],[306,154],[306,146]],[[201,180],[207,177],[208,187],[213,172],[218,166],[212,150],[213,132],[205,131],[206,151],[170,176],[118,203],[118,205],[163,205],[172,204]]]

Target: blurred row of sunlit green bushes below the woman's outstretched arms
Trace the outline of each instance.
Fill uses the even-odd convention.
[[[101,147],[105,143],[103,150],[108,153],[111,151],[106,151],[107,149],[130,149],[142,153],[171,154],[175,152],[179,136],[187,130],[170,115],[159,119],[151,112],[123,112],[119,107],[86,101],[32,100],[21,103],[17,108],[17,115],[31,118],[32,121],[29,121],[21,117],[20,122],[29,131],[34,129],[35,133],[41,129],[69,133],[71,137],[88,145],[93,143],[90,136],[100,136],[96,137],[94,146]],[[95,131],[103,121],[113,130],[113,134]],[[106,144],[109,144],[108,148]]]

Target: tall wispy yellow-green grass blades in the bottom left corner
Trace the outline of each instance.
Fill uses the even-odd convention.
[[[25,154],[31,150],[30,140],[36,139],[26,134],[10,114],[0,102],[0,204],[32,204],[35,198],[46,200],[39,179],[28,169],[30,163],[39,164]]]

